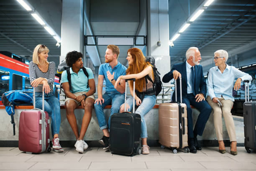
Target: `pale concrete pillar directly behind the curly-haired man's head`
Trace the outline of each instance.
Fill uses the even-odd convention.
[[[62,0],[60,61],[65,59],[69,51],[79,51],[85,56],[83,2],[83,0]]]

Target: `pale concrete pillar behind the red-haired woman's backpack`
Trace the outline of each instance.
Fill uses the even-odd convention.
[[[169,53],[169,15],[168,0],[148,0],[148,56],[154,56],[156,67],[161,74],[171,70]],[[158,46],[157,42],[161,45]]]

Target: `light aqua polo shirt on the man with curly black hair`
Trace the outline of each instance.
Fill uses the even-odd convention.
[[[83,69],[81,68],[78,71],[78,74],[75,73],[72,68],[70,68],[70,74],[71,74],[71,87],[70,92],[76,93],[76,92],[88,92],[90,90],[90,87],[87,88],[88,79],[94,79],[92,69],[86,68],[86,71],[88,73],[88,78],[84,74]],[[61,83],[69,82],[67,79],[67,71],[63,71],[61,74]]]

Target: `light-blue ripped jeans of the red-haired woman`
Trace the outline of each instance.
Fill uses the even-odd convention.
[[[127,109],[128,112],[133,111],[133,97],[129,97],[126,103],[130,106],[129,109]],[[135,100],[136,104],[136,100]],[[143,101],[141,102],[141,105],[138,106],[137,110],[135,113],[141,115],[141,138],[147,138],[148,133],[147,133],[147,125],[146,121],[144,119],[144,115],[146,115],[156,104],[156,96],[148,96],[145,94],[145,97]]]

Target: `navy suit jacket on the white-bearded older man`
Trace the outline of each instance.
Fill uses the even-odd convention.
[[[164,75],[162,81],[167,83],[171,79],[173,79],[172,72],[174,70],[179,71],[182,75],[182,97],[187,96],[187,69],[186,69],[186,61],[179,64],[174,64],[172,66],[172,70]],[[180,95],[179,95],[179,79],[177,79],[177,100],[180,102]],[[195,65],[195,93],[199,94],[206,94],[206,83],[205,78],[202,71],[201,65]],[[172,94],[172,101],[175,102],[175,92]]]

